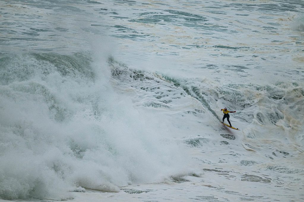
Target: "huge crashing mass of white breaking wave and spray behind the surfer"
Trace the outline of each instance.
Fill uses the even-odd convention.
[[[153,116],[148,123],[100,81],[108,77],[91,61],[80,53],[2,59],[2,198],[61,200],[77,187],[117,192],[187,173],[180,147],[164,143]]]

